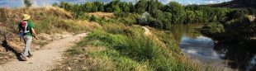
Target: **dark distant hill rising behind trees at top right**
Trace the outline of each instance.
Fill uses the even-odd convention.
[[[240,7],[256,8],[256,0],[233,0],[230,2],[211,4],[210,6],[211,7],[231,7],[231,8],[240,8]]]

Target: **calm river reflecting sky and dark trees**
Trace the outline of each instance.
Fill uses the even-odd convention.
[[[211,38],[201,35],[201,25],[173,26],[173,35],[180,49],[192,61],[213,70],[256,71],[255,50],[246,49],[251,45],[227,45],[215,43]]]

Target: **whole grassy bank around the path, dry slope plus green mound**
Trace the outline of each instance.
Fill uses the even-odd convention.
[[[0,18],[1,26],[6,28],[1,30],[1,36],[8,36],[8,40],[17,44],[19,41],[12,27],[17,26],[13,23],[18,22],[21,19],[19,15],[23,13],[31,15],[36,31],[46,37],[62,31],[71,32],[71,34],[90,31],[88,37],[65,52],[63,63],[54,70],[59,68],[59,70],[197,69],[196,65],[190,64],[190,61],[180,52],[170,32],[151,28],[154,34],[145,36],[145,30],[141,26],[122,23],[123,21],[113,14],[111,17],[94,17],[94,14],[84,14],[84,17],[76,19],[73,18],[72,12],[66,12],[59,7],[2,8],[0,11],[3,12]],[[138,17],[138,15],[132,16]],[[7,34],[4,34],[5,32]],[[46,40],[44,36],[40,36],[38,41]],[[34,44],[46,45],[47,43]],[[10,59],[15,58],[12,53],[1,50],[1,56],[7,56],[6,54],[11,54]]]

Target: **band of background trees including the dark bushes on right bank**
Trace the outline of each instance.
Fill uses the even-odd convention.
[[[173,25],[206,23],[209,24],[207,25],[208,29],[211,29],[207,31],[211,34],[220,34],[220,32],[226,31],[230,35],[235,35],[234,38],[242,37],[246,39],[255,35],[254,23],[246,19],[246,15],[255,14],[256,10],[254,8],[225,8],[206,5],[183,6],[178,2],[169,2],[164,5],[158,0],[140,0],[136,3],[121,2],[120,0],[108,3],[85,2],[83,4],[61,2],[59,7],[74,12],[76,16],[80,16],[84,12],[114,12],[116,17],[125,18],[133,16],[130,14],[140,14],[144,18],[137,18],[137,23],[134,24],[152,26],[157,29],[170,30]]]

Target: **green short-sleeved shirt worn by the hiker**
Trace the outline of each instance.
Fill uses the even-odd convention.
[[[31,31],[32,28],[34,28],[33,22],[27,21],[26,31],[29,31],[29,32],[26,33],[25,36],[33,36]],[[19,31],[24,30],[23,27],[21,26],[21,21],[18,24],[18,29]]]

